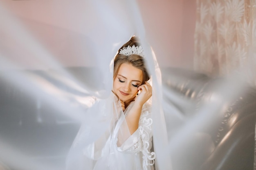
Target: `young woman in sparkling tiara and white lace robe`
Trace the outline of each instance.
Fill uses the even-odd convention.
[[[105,116],[110,118],[109,124],[100,137],[83,148],[80,160],[83,165],[69,161],[70,169],[74,166],[86,170],[153,169],[155,153],[150,152],[153,121],[150,118],[152,87],[147,83],[149,78],[143,49],[137,38],[132,37],[115,56],[112,94],[94,104],[94,108],[110,113]],[[95,131],[95,128],[90,130]],[[80,129],[72,147],[79,145],[90,130]]]

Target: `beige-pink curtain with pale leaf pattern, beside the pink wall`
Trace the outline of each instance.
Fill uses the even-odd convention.
[[[256,85],[256,0],[197,0],[194,68]]]

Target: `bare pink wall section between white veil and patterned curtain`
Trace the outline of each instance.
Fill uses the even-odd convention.
[[[162,67],[193,68],[196,0],[138,0]],[[147,18],[150,18],[149,20]],[[159,46],[160,44],[160,46]]]

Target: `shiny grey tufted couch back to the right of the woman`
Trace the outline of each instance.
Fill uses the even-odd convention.
[[[214,95],[225,98],[225,92],[218,89],[218,85],[230,83],[225,78],[210,78],[204,74],[173,68],[163,71],[163,80],[167,88],[174,89],[180,98],[192,103],[184,106],[170,100],[186,117],[195,116],[200,107],[211,103]],[[173,154],[173,169],[253,169],[256,90],[248,85],[242,88],[242,91],[234,92],[232,98],[225,98],[213,114],[215,118],[209,122],[208,128],[199,131],[200,137],[195,135],[188,141],[190,148],[185,149],[186,152]],[[168,96],[164,97],[169,100]]]

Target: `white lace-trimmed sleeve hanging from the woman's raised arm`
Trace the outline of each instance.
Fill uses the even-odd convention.
[[[133,104],[133,103],[131,103]],[[130,105],[131,105],[130,104]],[[129,109],[126,111],[128,113]],[[127,116],[127,115],[126,115]],[[152,129],[153,120],[151,117],[151,106],[145,104],[141,110],[138,129],[118,148],[121,152],[143,154],[143,167],[154,164],[155,153],[150,153],[152,146]],[[153,161],[153,163],[150,163]]]

